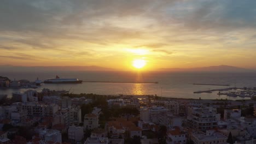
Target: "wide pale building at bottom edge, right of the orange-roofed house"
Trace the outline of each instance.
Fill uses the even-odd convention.
[[[224,136],[221,133],[216,133],[214,130],[207,130],[206,133],[195,132],[190,135],[190,139],[195,144],[213,144],[220,143],[226,144],[228,137]]]

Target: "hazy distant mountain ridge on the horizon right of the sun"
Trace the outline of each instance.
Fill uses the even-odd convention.
[[[250,72],[252,69],[232,67],[229,65],[218,65],[200,68],[162,68],[162,71],[205,71],[205,72]]]

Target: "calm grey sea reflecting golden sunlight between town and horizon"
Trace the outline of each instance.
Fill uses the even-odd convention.
[[[77,78],[83,81],[78,84],[48,84],[42,83],[35,90],[43,88],[51,90],[66,90],[69,93],[94,93],[103,95],[158,95],[170,98],[193,99],[249,99],[228,97],[213,93],[194,93],[228,87],[256,87],[256,73],[206,73],[206,72],[166,72],[166,71],[0,71],[0,76],[11,80],[26,79],[35,81],[52,79],[58,75],[61,78]],[[100,82],[104,81],[104,82]],[[106,82],[109,81],[109,82]],[[116,83],[110,83],[115,81]],[[119,83],[119,82],[158,82],[158,83]],[[230,86],[193,85],[193,83],[211,83]],[[0,94],[24,92],[28,89],[0,89]],[[233,90],[234,91],[234,90]]]

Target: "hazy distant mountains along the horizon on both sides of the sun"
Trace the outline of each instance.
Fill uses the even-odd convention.
[[[1,71],[118,71],[118,69],[91,66],[53,66],[53,67],[22,67],[13,65],[0,65]],[[189,72],[253,72],[256,70],[232,67],[229,65],[218,65],[200,68],[161,68],[155,71],[189,71]]]

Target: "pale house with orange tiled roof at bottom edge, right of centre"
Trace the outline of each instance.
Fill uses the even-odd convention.
[[[187,143],[187,139],[187,133],[179,127],[173,127],[171,130],[167,131],[167,144],[185,144]]]

